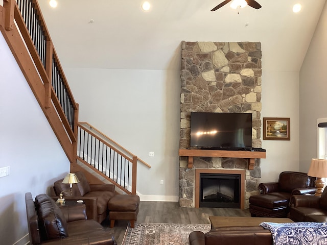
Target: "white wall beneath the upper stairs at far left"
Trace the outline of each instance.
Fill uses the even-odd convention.
[[[69,161],[0,34],[0,243],[28,239],[25,193],[46,193]],[[24,237],[24,238],[23,238]]]

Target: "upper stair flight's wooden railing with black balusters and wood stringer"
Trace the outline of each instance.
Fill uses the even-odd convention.
[[[75,162],[78,105],[37,1],[4,0],[0,29],[69,161]]]

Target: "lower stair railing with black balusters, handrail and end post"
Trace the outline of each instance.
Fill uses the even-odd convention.
[[[137,162],[151,167],[86,122],[78,123],[77,159],[129,194],[136,193]]]

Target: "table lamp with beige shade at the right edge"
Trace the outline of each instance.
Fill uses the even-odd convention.
[[[315,181],[317,188],[315,195],[321,197],[321,193],[325,185],[325,182],[321,178],[327,177],[327,160],[313,158],[311,160],[308,176],[317,178]]]

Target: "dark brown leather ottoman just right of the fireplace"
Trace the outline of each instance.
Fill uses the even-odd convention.
[[[279,195],[251,195],[249,202],[251,216],[282,218],[288,213],[289,201],[282,199]]]

